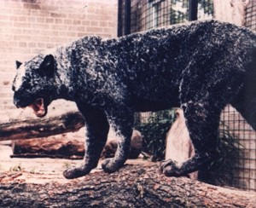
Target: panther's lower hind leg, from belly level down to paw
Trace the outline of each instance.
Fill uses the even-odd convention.
[[[166,176],[187,176],[210,163],[216,156],[218,122],[221,109],[206,102],[183,103],[189,136],[195,147],[195,155],[181,164],[166,160],[160,169]]]

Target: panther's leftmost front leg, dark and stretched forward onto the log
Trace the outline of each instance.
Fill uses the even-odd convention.
[[[81,165],[71,167],[63,172],[63,175],[68,179],[84,176],[96,168],[108,138],[109,124],[106,114],[93,107],[86,107],[85,105],[78,105],[78,107],[84,115],[86,124],[85,153]]]

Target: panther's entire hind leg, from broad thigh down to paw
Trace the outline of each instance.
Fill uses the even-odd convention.
[[[203,45],[183,70],[179,98],[195,155],[181,164],[164,162],[161,170],[166,176],[186,176],[218,157],[220,113],[236,96],[244,76],[236,64],[230,65],[235,57],[230,50]]]

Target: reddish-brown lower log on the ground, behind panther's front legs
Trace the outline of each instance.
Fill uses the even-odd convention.
[[[112,135],[113,136],[113,135]],[[108,137],[108,141],[103,148],[102,158],[112,158],[117,149],[117,138]],[[133,130],[131,136],[131,147],[129,159],[137,159],[143,148],[143,136],[137,130]],[[65,158],[83,159],[83,141],[76,138],[41,138],[29,140],[12,141],[13,155],[11,158]]]

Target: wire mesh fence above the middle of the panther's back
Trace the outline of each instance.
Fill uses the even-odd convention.
[[[198,20],[211,19],[212,0],[199,0],[197,14]],[[119,0],[119,36],[127,27],[134,33],[188,21],[189,0]]]

